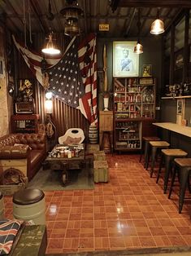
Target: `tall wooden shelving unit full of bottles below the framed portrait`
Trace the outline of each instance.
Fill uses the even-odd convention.
[[[141,149],[143,127],[155,118],[155,84],[153,77],[114,78],[115,151]]]

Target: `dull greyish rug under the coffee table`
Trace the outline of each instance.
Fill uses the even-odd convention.
[[[93,168],[85,167],[79,170],[68,170],[68,183],[62,183],[61,170],[41,170],[28,183],[28,188],[38,188],[43,191],[94,189]]]

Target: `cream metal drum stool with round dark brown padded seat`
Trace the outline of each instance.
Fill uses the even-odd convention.
[[[13,216],[35,225],[46,224],[45,194],[40,189],[24,189],[13,195]]]

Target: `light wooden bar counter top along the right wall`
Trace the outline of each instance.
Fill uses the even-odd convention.
[[[154,122],[153,125],[191,138],[191,127],[189,126],[180,126],[173,122]]]

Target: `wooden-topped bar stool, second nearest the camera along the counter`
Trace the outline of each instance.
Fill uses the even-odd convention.
[[[162,152],[162,157],[161,157],[161,161],[160,161],[160,166],[158,168],[158,175],[157,175],[156,183],[158,183],[158,179],[160,177],[162,166],[163,166],[163,161],[164,161],[165,173],[164,173],[163,192],[165,194],[167,192],[167,183],[168,183],[168,179],[169,179],[169,174],[171,172],[172,161],[178,157],[186,157],[188,155],[188,153],[184,152],[182,149],[179,149],[179,148],[162,149],[161,152]]]

